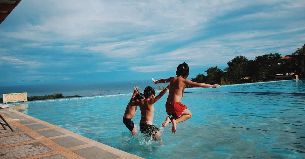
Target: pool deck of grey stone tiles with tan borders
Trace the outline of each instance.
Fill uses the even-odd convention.
[[[1,159],[141,158],[13,109],[0,109],[0,113],[14,129],[0,126]]]

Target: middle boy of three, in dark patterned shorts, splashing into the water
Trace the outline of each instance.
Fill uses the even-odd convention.
[[[154,116],[153,104],[157,102],[169,89],[169,86],[159,93],[155,98],[155,90],[147,86],[144,90],[144,100],[132,102],[131,106],[140,106],[141,110],[141,120],[140,120],[140,131],[141,133],[146,133],[152,136],[154,140],[160,139],[160,134],[157,132],[159,128],[152,125]]]

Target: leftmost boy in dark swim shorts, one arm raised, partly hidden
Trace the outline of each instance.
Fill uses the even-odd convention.
[[[137,107],[130,106],[131,102],[133,101],[139,101],[144,100],[144,96],[142,93],[138,92],[140,90],[139,87],[134,88],[134,93],[131,96],[130,101],[127,104],[124,116],[123,116],[123,123],[126,125],[126,127],[131,131],[132,135],[135,135],[137,133],[137,130],[135,128],[134,122],[131,120],[135,116],[135,112],[137,110]]]

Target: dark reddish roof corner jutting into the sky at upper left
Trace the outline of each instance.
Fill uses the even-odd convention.
[[[9,13],[19,4],[21,0],[0,0],[0,24],[5,20]]]

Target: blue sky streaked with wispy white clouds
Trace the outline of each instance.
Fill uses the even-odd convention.
[[[90,83],[224,69],[236,56],[291,54],[305,3],[22,0],[0,24],[0,85]]]

